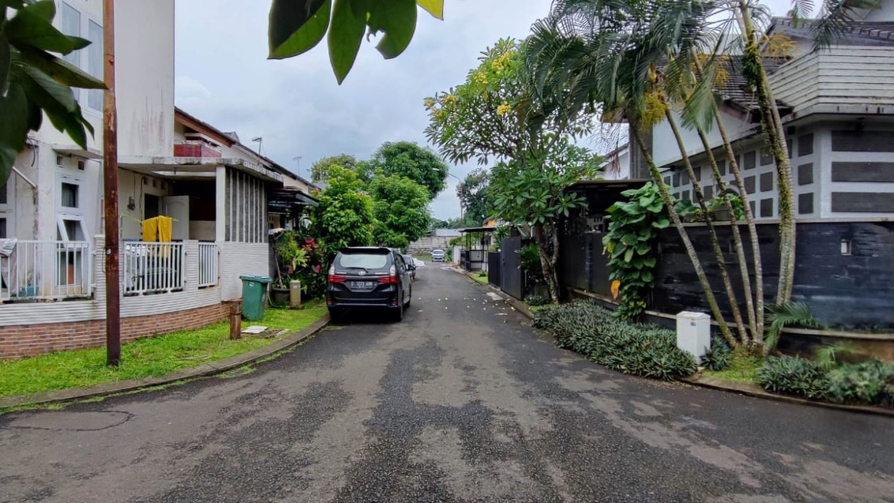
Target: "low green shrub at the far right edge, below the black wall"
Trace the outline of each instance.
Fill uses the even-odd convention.
[[[833,402],[890,404],[894,391],[894,365],[886,365],[878,359],[839,365],[829,371],[828,379],[829,399]]]

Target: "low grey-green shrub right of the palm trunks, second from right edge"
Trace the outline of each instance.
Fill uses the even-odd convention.
[[[757,370],[757,381],[764,390],[825,398],[829,394],[826,369],[797,356],[770,356]]]

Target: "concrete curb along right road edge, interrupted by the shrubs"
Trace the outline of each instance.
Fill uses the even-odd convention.
[[[503,293],[500,289],[493,288],[490,284],[482,283],[481,281],[476,281],[472,277],[472,273],[463,271],[460,269],[460,272],[466,274],[472,281],[475,281],[479,285],[483,285],[489,289],[493,289],[498,292],[500,296],[510,304],[510,306],[515,307],[519,313],[524,314],[531,320],[534,319],[534,313],[531,312],[530,309],[527,308],[524,302],[520,301],[517,298],[512,298],[505,293]],[[701,388],[710,388],[712,390],[721,390],[721,391],[729,391],[730,393],[738,393],[740,395],[747,395],[749,397],[755,398],[764,398],[767,400],[775,400],[778,402],[788,402],[792,404],[805,405],[810,407],[825,407],[832,408],[838,410],[846,410],[849,412],[856,412],[861,414],[873,414],[873,415],[886,415],[889,417],[894,417],[894,409],[882,408],[882,407],[868,407],[868,406],[848,406],[844,404],[833,404],[830,402],[818,402],[814,400],[808,400],[806,398],[797,398],[797,397],[789,397],[787,395],[779,395],[776,393],[771,393],[770,391],[764,390],[759,385],[754,382],[744,382],[744,381],[733,381],[731,379],[721,379],[719,377],[711,377],[708,375],[703,375],[699,373],[694,373],[687,377],[680,377],[678,381],[686,382],[687,384],[691,384],[693,386],[698,386]]]

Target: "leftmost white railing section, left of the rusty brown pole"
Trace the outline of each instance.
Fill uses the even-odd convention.
[[[17,240],[0,255],[0,300],[59,300],[93,294],[87,241]]]

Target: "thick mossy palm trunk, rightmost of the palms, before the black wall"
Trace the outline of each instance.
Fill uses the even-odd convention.
[[[773,160],[776,162],[776,185],[780,199],[780,279],[776,289],[776,302],[787,302],[791,299],[791,292],[795,281],[795,195],[792,189],[791,163],[789,162],[789,148],[786,146],[785,133],[782,130],[782,120],[779,108],[773,99],[772,89],[767,81],[767,72],[763,69],[763,62],[758,54],[757,40],[755,39],[755,27],[751,21],[751,15],[746,0],[738,0],[741,22],[745,28],[743,36],[746,38],[746,57],[752,54],[755,64],[756,80],[753,82],[757,90],[757,102],[761,110],[761,122],[764,134],[770,143]]]

